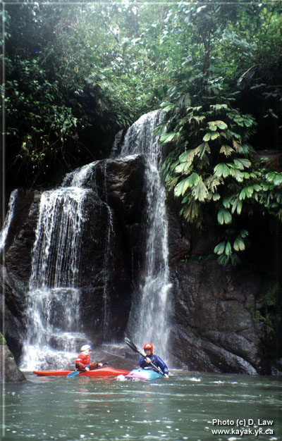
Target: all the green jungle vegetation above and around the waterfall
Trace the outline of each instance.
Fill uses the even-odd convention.
[[[168,192],[188,223],[219,225],[219,263],[239,263],[250,218],[282,221],[281,12],[266,0],[6,3],[7,185],[105,158],[118,130],[162,108]]]

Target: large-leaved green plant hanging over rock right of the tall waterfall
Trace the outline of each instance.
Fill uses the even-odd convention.
[[[197,97],[198,98],[198,97]],[[191,103],[195,97],[191,97]],[[216,218],[228,237],[237,218],[252,212],[253,204],[281,219],[282,173],[266,171],[252,159],[254,149],[247,143],[255,128],[250,114],[233,108],[233,97],[202,95],[202,106],[183,106],[180,99],[166,110],[160,142],[173,149],[164,161],[168,190],[181,198],[180,214],[188,223],[204,228],[207,219]],[[168,137],[166,137],[168,135]],[[215,247],[219,263],[240,262],[245,250],[245,230],[233,231]]]

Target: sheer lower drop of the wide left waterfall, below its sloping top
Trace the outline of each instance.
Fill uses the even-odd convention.
[[[44,368],[52,358],[66,366],[79,333],[80,231],[90,190],[60,187],[42,193],[27,295],[27,338],[22,368]],[[58,357],[58,351],[60,357]]]

